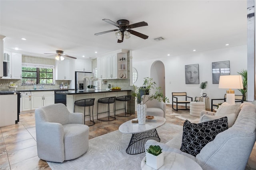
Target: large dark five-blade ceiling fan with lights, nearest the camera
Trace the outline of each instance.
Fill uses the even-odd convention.
[[[112,24],[112,25],[118,27],[119,29],[99,32],[99,33],[96,33],[94,35],[98,36],[100,34],[105,34],[105,33],[108,33],[108,32],[114,32],[114,31],[119,30],[119,32],[116,32],[116,37],[118,38],[118,41],[117,41],[118,43],[123,42],[124,38],[130,38],[130,34],[133,34],[134,36],[138,36],[138,37],[143,38],[143,39],[148,38],[148,36],[146,36],[145,34],[141,34],[141,33],[136,32],[134,30],[129,30],[131,28],[148,26],[148,23],[146,23],[144,21],[138,22],[138,23],[135,23],[135,24],[130,24],[130,22],[128,20],[118,20],[116,23],[109,20],[109,19],[103,19],[103,21],[108,22],[109,24]]]

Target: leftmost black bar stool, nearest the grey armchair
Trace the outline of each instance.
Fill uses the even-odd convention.
[[[94,119],[93,119],[93,106],[94,106],[94,100],[95,98],[92,99],[82,99],[82,100],[77,100],[74,102],[74,112],[75,112],[75,106],[80,106],[80,107],[84,107],[84,125],[85,125],[85,117],[89,116],[90,117],[90,121],[91,121],[91,106],[92,106],[92,125],[95,124]],[[89,107],[89,113],[88,115],[85,115],[85,107]],[[88,125],[88,126],[92,126],[92,125]]]

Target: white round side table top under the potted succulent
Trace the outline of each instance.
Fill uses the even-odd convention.
[[[142,170],[154,170],[145,162],[146,156],[141,161]],[[164,165],[158,170],[202,170],[194,160],[175,152],[164,152]]]

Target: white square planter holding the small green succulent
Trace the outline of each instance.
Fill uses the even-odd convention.
[[[155,170],[159,169],[164,164],[164,152],[158,156],[146,152],[146,164]]]

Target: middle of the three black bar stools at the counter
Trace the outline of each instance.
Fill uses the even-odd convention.
[[[114,117],[112,117],[112,116],[110,116],[110,108],[109,108],[109,104],[110,103],[114,103],[114,108],[115,108],[115,101],[116,101],[116,97],[105,97],[105,98],[98,99],[97,119],[98,119],[98,115],[99,114],[101,114],[101,113],[108,113],[108,119],[107,120],[105,120],[104,118],[101,118],[101,119],[98,119],[98,120],[100,120],[100,121],[114,121],[116,119],[115,110],[114,110]],[[108,111],[107,112],[98,113],[99,103],[108,104]]]

